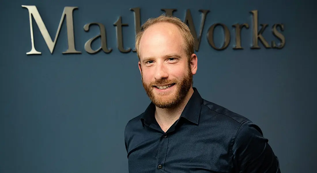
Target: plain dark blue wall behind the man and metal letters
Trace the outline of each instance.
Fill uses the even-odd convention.
[[[136,53],[116,48],[113,23],[122,16],[125,48],[134,45],[134,16],[140,7],[141,22],[156,17],[162,8],[176,8],[182,20],[191,10],[198,33],[199,9],[209,9],[198,57],[194,86],[211,102],[248,117],[259,125],[280,159],[281,171],[314,172],[316,157],[316,12],[314,1],[169,1],[160,0],[15,0],[5,1],[1,11],[0,57],[0,172],[1,173],[124,173],[127,158],[124,127],[142,113],[150,100],[141,83]],[[76,49],[82,54],[63,55],[67,49],[64,21],[53,54],[36,26],[36,49],[31,50],[29,13],[21,5],[36,5],[54,38],[65,6],[74,11]],[[269,24],[266,40],[275,23],[283,23],[283,49],[251,50],[252,15]],[[85,42],[99,34],[100,22],[107,30],[110,54],[85,52]],[[227,25],[231,42],[223,51],[208,43],[213,24]],[[244,50],[233,50],[235,23],[248,23],[242,30]],[[215,42],[221,45],[221,28]],[[99,41],[93,48],[100,46]]]

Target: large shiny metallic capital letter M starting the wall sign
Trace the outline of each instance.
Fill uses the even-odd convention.
[[[27,8],[29,10],[29,20],[30,20],[30,31],[31,31],[31,42],[32,42],[32,49],[30,52],[26,54],[42,54],[41,52],[38,52],[35,49],[34,46],[34,36],[33,36],[33,24],[32,24],[32,16],[37,24],[37,27],[40,29],[41,34],[46,42],[46,45],[49,47],[49,51],[51,54],[53,53],[55,43],[57,40],[57,37],[59,35],[59,32],[61,30],[61,25],[64,21],[65,15],[66,15],[66,27],[67,27],[67,40],[68,40],[68,49],[65,52],[62,53],[81,53],[80,51],[76,51],[75,49],[75,42],[74,42],[74,24],[73,24],[73,11],[74,9],[77,9],[78,7],[65,7],[63,14],[61,15],[61,21],[58,25],[58,29],[54,38],[54,41],[49,35],[49,32],[47,31],[46,26],[44,25],[44,22],[41,18],[41,15],[39,14],[37,8],[35,5],[22,5],[23,8]]]

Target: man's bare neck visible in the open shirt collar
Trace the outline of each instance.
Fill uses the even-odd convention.
[[[166,132],[176,120],[179,119],[187,102],[194,93],[193,88],[188,91],[187,95],[178,105],[172,108],[155,108],[155,119],[159,123],[161,129]]]

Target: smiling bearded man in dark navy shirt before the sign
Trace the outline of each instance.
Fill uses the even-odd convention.
[[[164,15],[149,19],[135,43],[152,102],[125,128],[129,173],[280,172],[258,126],[192,86],[197,56],[186,24]]]

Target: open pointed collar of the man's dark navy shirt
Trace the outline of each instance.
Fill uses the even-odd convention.
[[[194,90],[194,93],[192,94],[191,98],[187,102],[180,117],[184,117],[185,119],[198,125],[201,104],[203,102],[203,99],[195,87],[193,87],[193,90]],[[144,125],[150,126],[152,123],[156,121],[154,113],[155,113],[155,105],[153,102],[151,102],[140,118],[143,126]]]

